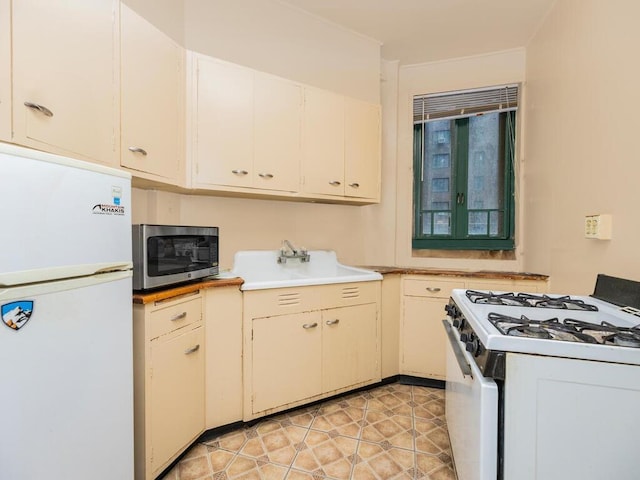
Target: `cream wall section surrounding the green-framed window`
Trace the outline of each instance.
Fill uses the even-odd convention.
[[[424,258],[413,256],[413,97],[415,95],[463,90],[524,81],[524,49],[490,55],[452,59],[400,68],[397,95],[397,174],[385,179],[383,188],[394,189],[396,197],[396,265],[459,270],[519,271],[522,265],[522,235],[516,232],[515,260]],[[521,129],[519,130],[519,133]],[[385,134],[388,135],[388,134]],[[395,185],[391,182],[395,180]],[[519,205],[519,203],[518,203]],[[520,217],[520,215],[517,215]],[[455,253],[454,253],[455,255]]]

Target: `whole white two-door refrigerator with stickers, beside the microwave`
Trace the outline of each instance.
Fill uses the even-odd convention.
[[[0,143],[0,479],[133,478],[131,177]]]

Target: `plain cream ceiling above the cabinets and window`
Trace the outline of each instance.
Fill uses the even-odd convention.
[[[285,0],[416,64],[524,47],[556,0]]]

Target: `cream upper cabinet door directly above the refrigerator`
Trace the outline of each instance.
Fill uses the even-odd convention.
[[[13,2],[16,143],[119,164],[119,3]]]

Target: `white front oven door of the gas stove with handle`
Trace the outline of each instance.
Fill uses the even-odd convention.
[[[458,480],[496,480],[498,387],[480,373],[458,332],[447,332],[446,417]]]

